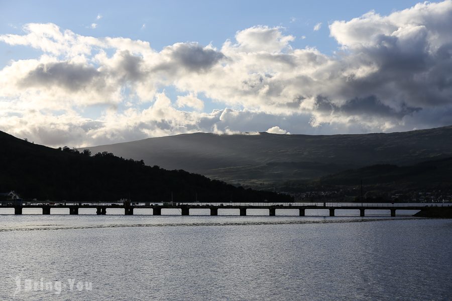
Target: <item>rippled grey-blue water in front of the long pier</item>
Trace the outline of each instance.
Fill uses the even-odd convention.
[[[0,215],[0,242],[1,300],[452,299],[450,219]]]

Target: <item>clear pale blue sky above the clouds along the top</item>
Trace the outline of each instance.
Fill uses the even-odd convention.
[[[54,23],[93,37],[128,37],[149,41],[161,50],[177,42],[221,46],[234,34],[255,25],[281,26],[297,39],[296,48],[313,46],[324,53],[337,49],[328,23],[350,20],[374,10],[381,15],[409,8],[418,1],[2,1],[0,32],[20,33],[27,23]],[[97,20],[100,15],[102,18]],[[295,18],[295,20],[293,19]],[[91,29],[91,24],[97,24]],[[318,32],[313,31],[322,23]],[[145,28],[142,29],[143,24]],[[16,27],[16,28],[12,28]],[[302,40],[301,37],[306,39]],[[2,63],[26,57],[4,44]],[[19,52],[18,52],[19,51]],[[16,53],[18,52],[18,53]]]

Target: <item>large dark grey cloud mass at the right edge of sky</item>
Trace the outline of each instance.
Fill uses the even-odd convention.
[[[425,47],[401,51],[397,47],[368,50],[366,55],[377,64],[378,72],[351,83],[357,95],[375,93],[393,103],[431,107],[452,102],[452,60],[440,49],[440,55]]]

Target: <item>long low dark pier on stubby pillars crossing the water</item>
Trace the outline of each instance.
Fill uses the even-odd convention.
[[[77,203],[52,203],[52,202],[2,202],[0,208],[14,208],[14,214],[20,215],[24,208],[41,208],[43,215],[49,215],[52,208],[68,208],[70,215],[77,215],[80,208],[95,209],[97,215],[105,215],[107,208],[124,209],[125,215],[133,215],[135,209],[152,209],[152,215],[162,215],[162,209],[178,209],[181,215],[190,215],[190,209],[208,209],[211,216],[218,215],[219,209],[238,209],[241,216],[247,215],[248,209],[268,209],[269,216],[276,215],[276,209],[295,209],[299,216],[305,216],[307,209],[328,210],[329,216],[335,215],[335,210],[355,209],[360,216],[366,215],[366,210],[389,210],[391,216],[396,216],[396,210],[427,210],[432,206],[449,207],[452,204],[389,204],[389,203],[133,203],[114,202],[77,202]],[[452,208],[452,206],[450,206]]]

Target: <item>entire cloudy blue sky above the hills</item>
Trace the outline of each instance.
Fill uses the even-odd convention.
[[[81,147],[452,124],[452,1],[2,1],[0,130]]]

